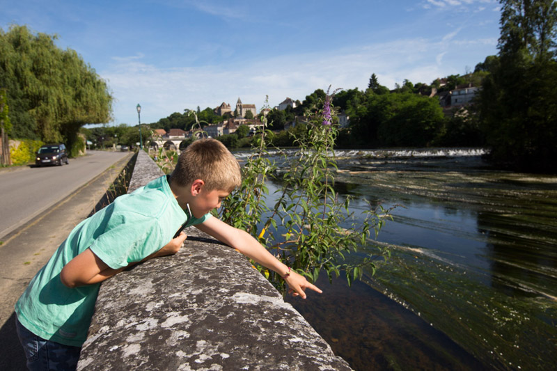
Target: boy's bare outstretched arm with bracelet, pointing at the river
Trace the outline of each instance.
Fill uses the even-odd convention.
[[[289,269],[286,265],[276,259],[272,253],[244,230],[239,230],[219,220],[218,218],[209,218],[205,222],[196,226],[199,230],[212,235],[220,242],[236,248],[240,253],[246,255],[248,258],[255,260],[260,265],[276,271],[281,276],[286,276]],[[322,291],[312,283],[309,283],[304,276],[297,274],[295,271],[290,271],[290,276],[285,278],[290,291],[295,296],[300,296],[306,299],[306,288],[321,293]]]

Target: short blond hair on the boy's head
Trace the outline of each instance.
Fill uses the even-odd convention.
[[[240,164],[221,142],[199,139],[180,154],[171,175],[171,181],[182,187],[197,179],[205,182],[207,191],[231,192],[242,182]]]

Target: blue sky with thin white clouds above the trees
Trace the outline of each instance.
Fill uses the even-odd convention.
[[[0,0],[0,28],[58,35],[107,81],[110,125],[317,88],[365,90],[473,71],[497,54],[497,0]]]

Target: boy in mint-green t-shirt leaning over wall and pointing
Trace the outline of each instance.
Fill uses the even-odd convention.
[[[248,233],[209,214],[240,182],[240,165],[226,147],[201,139],[180,155],[171,175],[79,223],[15,305],[28,368],[74,369],[100,283],[137,262],[178,252],[186,235],[173,236],[185,226],[195,225],[276,271],[294,295],[305,299],[306,288],[321,292]]]

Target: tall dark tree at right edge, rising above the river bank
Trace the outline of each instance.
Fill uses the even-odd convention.
[[[520,171],[554,172],[556,5],[547,0],[501,3],[499,58],[489,64],[478,102],[490,156]]]

